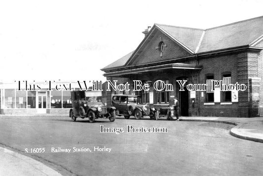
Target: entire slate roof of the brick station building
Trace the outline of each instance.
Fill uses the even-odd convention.
[[[263,39],[263,16],[209,29],[154,24],[148,36],[156,28],[188,50],[189,53],[198,55],[240,46],[254,46]],[[147,37],[144,38],[135,51],[130,52],[102,70],[127,65],[146,40]]]

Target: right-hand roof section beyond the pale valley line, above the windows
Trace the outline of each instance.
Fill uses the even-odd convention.
[[[205,31],[198,53],[252,45],[263,35],[263,16],[239,21]]]

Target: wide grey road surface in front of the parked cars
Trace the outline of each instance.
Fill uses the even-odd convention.
[[[128,125],[167,132],[127,132]],[[101,126],[123,132],[100,132]],[[263,175],[263,143],[231,136],[232,127],[133,117],[89,123],[66,116],[1,116],[0,143],[62,175]]]

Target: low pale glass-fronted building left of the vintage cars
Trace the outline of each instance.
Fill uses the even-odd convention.
[[[71,104],[71,91],[49,87],[45,82],[34,82],[40,90],[18,90],[17,83],[0,83],[0,114],[68,114]],[[73,82],[57,82],[59,85]]]

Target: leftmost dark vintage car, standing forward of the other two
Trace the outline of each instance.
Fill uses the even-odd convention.
[[[109,118],[111,122],[115,120],[115,108],[107,107],[102,102],[101,91],[81,91],[71,92],[72,109],[70,117],[76,121],[77,117],[88,118],[89,122],[94,122],[97,118]]]

